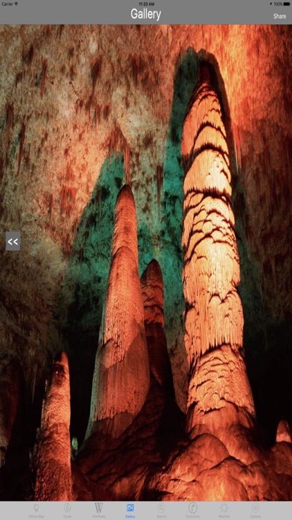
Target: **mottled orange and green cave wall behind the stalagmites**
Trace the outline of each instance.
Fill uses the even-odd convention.
[[[289,26],[0,27],[0,227],[21,232],[21,253],[0,245],[0,348],[21,363],[33,416],[62,347],[73,403],[85,401],[72,433],[84,435],[113,206],[126,179],[139,273],[152,258],[163,272],[167,348],[185,411],[181,131],[207,60],[232,152],[255,406],[263,427],[271,406],[274,430],[277,419],[291,423],[290,55]]]

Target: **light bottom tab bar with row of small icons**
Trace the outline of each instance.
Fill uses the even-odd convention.
[[[0,517],[44,520],[291,520],[291,502],[2,502]]]

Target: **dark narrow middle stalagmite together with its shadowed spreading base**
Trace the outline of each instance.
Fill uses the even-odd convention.
[[[147,499],[149,478],[163,464],[165,453],[172,447],[183,424],[183,413],[174,401],[172,370],[163,330],[163,278],[156,260],[152,260],[143,272],[141,286],[150,388],[145,404],[127,430],[117,438],[98,431],[86,439],[77,453],[77,471],[89,478],[84,482],[89,500],[94,496],[107,497],[107,500],[127,500],[129,496],[133,500]],[[98,478],[95,477],[96,468]],[[77,471],[75,490],[79,500],[84,494]]]

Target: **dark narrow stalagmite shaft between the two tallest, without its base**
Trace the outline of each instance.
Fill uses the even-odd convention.
[[[150,373],[174,395],[172,367],[167,352],[163,315],[163,277],[158,261],[152,260],[141,276],[145,313],[145,333]]]

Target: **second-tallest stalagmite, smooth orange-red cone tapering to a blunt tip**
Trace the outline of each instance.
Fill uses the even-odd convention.
[[[95,358],[86,437],[118,437],[140,412],[149,390],[149,359],[138,275],[136,207],[131,188],[118,194],[111,267]]]

